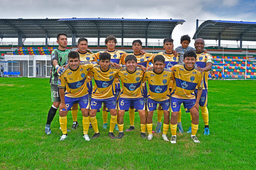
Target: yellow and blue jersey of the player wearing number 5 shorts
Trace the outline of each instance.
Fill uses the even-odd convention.
[[[202,89],[202,73],[194,66],[192,70],[187,70],[185,64],[176,64],[171,70],[173,76],[173,88],[171,97],[179,99],[195,99],[194,90],[196,86]]]

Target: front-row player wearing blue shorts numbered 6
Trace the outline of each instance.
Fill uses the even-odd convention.
[[[147,138],[146,131],[146,115],[145,102],[142,96],[142,78],[144,71],[136,67],[137,58],[134,55],[127,55],[125,58],[126,68],[119,71],[118,77],[122,82],[122,90],[119,97],[119,110],[117,116],[117,123],[119,134],[117,138],[124,136],[124,112],[129,110],[131,104],[138,110],[140,115],[141,137]]]

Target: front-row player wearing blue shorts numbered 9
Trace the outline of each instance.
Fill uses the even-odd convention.
[[[88,71],[98,65],[97,62],[84,62],[80,63],[80,57],[78,52],[71,51],[68,54],[69,67],[66,71],[59,77],[58,87],[60,88],[60,127],[63,135],[60,140],[67,138],[67,113],[73,107],[73,104],[78,103],[82,115],[83,115],[83,128],[84,128],[84,138],[89,141],[88,136],[89,128],[89,96],[87,92],[87,73]],[[64,88],[67,88],[64,92]]]

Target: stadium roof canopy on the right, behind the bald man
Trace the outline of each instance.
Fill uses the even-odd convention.
[[[219,47],[220,40],[240,41],[241,48],[242,40],[256,41],[256,22],[207,20],[197,28],[193,39],[197,38],[219,40]]]

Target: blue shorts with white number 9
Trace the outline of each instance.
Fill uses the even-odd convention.
[[[81,109],[89,109],[89,95],[84,95],[82,97],[64,97],[65,105],[67,110],[61,109],[62,111],[69,111],[73,107],[73,104],[78,103]]]

